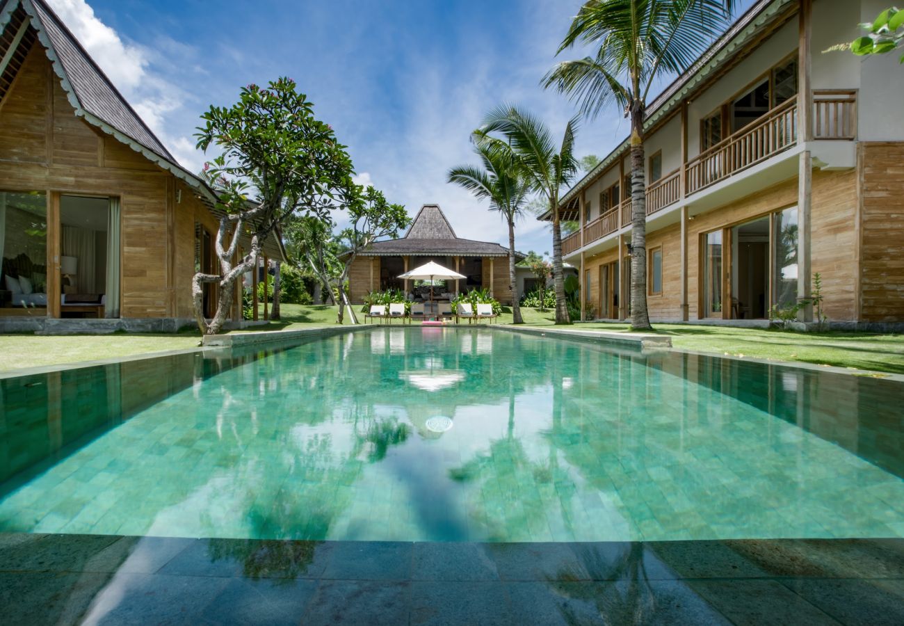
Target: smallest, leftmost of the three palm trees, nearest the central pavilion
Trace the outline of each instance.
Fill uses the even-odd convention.
[[[474,150],[483,164],[457,166],[448,172],[448,182],[461,185],[478,200],[489,200],[490,210],[502,213],[509,225],[509,289],[512,290],[512,318],[523,324],[514,277],[514,221],[524,210],[524,198],[530,191],[527,179],[513,163],[509,151],[495,150],[484,144]]]

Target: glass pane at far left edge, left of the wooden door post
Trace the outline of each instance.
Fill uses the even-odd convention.
[[[0,315],[45,314],[46,194],[0,192],[0,259]]]

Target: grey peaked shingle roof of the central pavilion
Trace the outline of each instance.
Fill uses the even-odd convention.
[[[439,204],[424,204],[401,239],[374,242],[359,256],[476,256],[507,257],[508,249],[493,242],[476,242],[457,237]],[[524,255],[515,252],[521,260]]]

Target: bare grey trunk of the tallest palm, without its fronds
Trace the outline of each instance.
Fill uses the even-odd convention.
[[[646,312],[644,109],[631,109],[631,329],[652,330]]]

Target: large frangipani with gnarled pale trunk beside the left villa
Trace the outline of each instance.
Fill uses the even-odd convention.
[[[231,107],[212,106],[202,115],[198,147],[221,154],[204,166],[218,194],[220,227],[214,242],[220,272],[198,272],[192,281],[194,315],[203,334],[218,333],[232,305],[235,283],[257,268],[261,246],[299,213],[325,217],[346,204],[353,191],[352,160],[333,128],[315,119],[314,105],[295,81],[248,85]],[[250,241],[239,256],[240,237]],[[204,318],[204,283],[220,286],[213,318]]]

